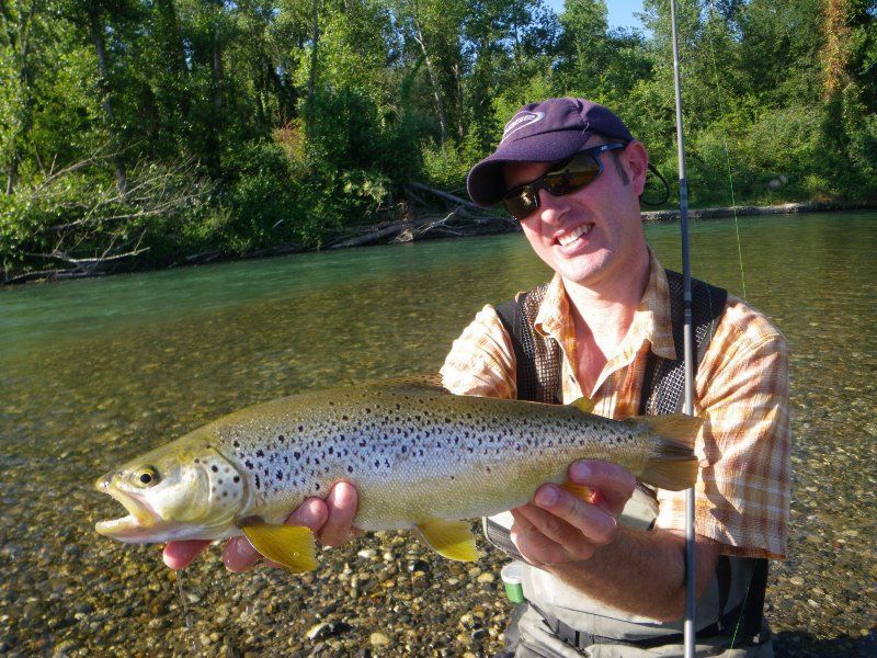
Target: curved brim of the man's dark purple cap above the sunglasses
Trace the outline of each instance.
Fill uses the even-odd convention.
[[[565,160],[579,152],[590,137],[590,131],[556,131],[501,145],[497,152],[478,162],[469,171],[466,178],[469,196],[481,207],[492,206],[505,195],[503,164]]]

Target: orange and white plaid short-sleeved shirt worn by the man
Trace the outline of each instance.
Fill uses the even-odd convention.
[[[667,275],[651,254],[649,283],[626,337],[589,397],[594,412],[624,419],[639,411],[649,350],[675,359]],[[586,319],[586,318],[585,318]],[[562,280],[555,275],[534,322],[562,352],[563,402],[582,397],[577,341]],[[515,398],[515,356],[488,305],[454,341],[442,366],[457,395]],[[729,295],[695,378],[695,413],[705,418],[695,442],[695,532],[722,553],[783,558],[789,514],[788,348],[756,310]],[[658,490],[657,527],[684,530],[685,492]]]

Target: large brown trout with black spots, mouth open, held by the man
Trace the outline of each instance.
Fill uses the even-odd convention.
[[[477,558],[465,519],[563,485],[576,460],[604,460],[662,489],[691,487],[687,416],[625,421],[588,400],[554,406],[455,396],[432,379],[395,379],[306,393],[230,413],[111,470],[95,483],[129,512],[96,531],[123,542],[246,534],[292,571],[312,569],[310,530],[284,524],[306,498],[353,484],[355,525],[417,529],[451,559]]]

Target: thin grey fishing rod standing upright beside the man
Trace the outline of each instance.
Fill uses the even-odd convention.
[[[682,238],[683,344],[685,348],[685,405],[683,412],[694,416],[694,347],[692,330],[692,263],[688,250],[688,182],[685,169],[685,136],[682,129],[682,81],[676,34],[676,1],[670,0],[670,24],[673,36],[673,87],[676,92],[676,145],[679,147],[679,209]],[[694,570],[694,487],[685,490],[685,658],[694,658],[695,649],[695,570]]]

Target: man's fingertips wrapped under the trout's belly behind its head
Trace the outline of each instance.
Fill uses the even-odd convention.
[[[308,498],[286,519],[288,525],[306,525],[327,546],[341,546],[357,531],[353,527],[358,498],[356,488],[350,483],[338,483],[326,500]],[[168,542],[164,546],[164,564],[171,569],[189,566],[207,546],[209,540]],[[231,537],[223,548],[223,563],[229,571],[247,571],[259,561],[259,552],[244,536]],[[273,566],[274,563],[265,560]]]

